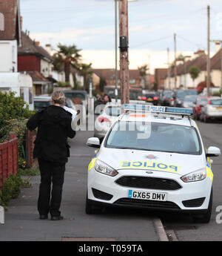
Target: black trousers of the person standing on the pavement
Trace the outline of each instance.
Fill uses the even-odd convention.
[[[40,215],[60,215],[61,194],[64,183],[65,163],[53,163],[38,158],[41,183],[38,195],[38,212]],[[51,190],[51,184],[53,188]]]

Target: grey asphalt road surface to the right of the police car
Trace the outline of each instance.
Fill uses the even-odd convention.
[[[222,123],[197,122],[197,124],[201,131],[205,148],[213,145],[221,148],[222,153]],[[173,230],[179,241],[222,240],[222,217],[220,216],[222,211],[222,156],[212,157],[211,159],[213,160],[212,171],[214,174],[211,221],[207,224],[197,224],[192,222],[191,217],[181,214],[164,214],[159,216],[164,224],[166,234],[170,234],[170,231]],[[216,211],[219,206],[221,206],[221,210]]]

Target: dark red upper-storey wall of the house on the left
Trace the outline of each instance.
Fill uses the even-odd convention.
[[[38,71],[40,70],[40,58],[35,55],[18,56],[18,71]]]

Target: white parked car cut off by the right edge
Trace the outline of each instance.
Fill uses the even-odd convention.
[[[211,119],[222,119],[222,98],[209,97],[207,104],[201,108],[200,119],[203,122],[209,122]]]

